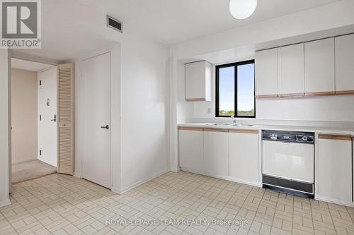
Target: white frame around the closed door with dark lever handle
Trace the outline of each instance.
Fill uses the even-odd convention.
[[[112,152],[113,152],[113,141],[112,141],[112,133],[113,133],[113,128],[112,128],[112,123],[113,123],[113,119],[112,119],[112,112],[113,112],[113,108],[112,108],[112,67],[113,67],[113,63],[112,63],[112,49],[111,48],[108,48],[108,49],[103,49],[101,51],[98,51],[98,52],[93,52],[92,54],[89,54],[88,56],[85,56],[84,58],[80,59],[80,62],[82,64],[84,64],[84,61],[88,60],[88,59],[92,59],[96,56],[101,56],[103,54],[107,54],[109,53],[110,54],[110,79],[109,79],[109,105],[110,105],[110,156],[109,156],[109,159],[110,159],[110,172],[109,172],[109,176],[110,176],[110,189],[112,190],[113,189],[113,155],[112,155]],[[81,68],[82,69],[82,72],[84,71],[84,66],[81,65]],[[80,78],[84,78],[84,74],[81,73],[81,76]],[[79,150],[78,150],[79,151]],[[84,157],[81,159],[80,161],[80,168],[81,168],[81,176],[84,175]],[[81,177],[80,176],[80,177]],[[82,178],[82,177],[81,177]]]

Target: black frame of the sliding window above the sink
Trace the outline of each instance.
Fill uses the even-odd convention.
[[[241,116],[237,115],[237,97],[238,97],[238,92],[237,92],[237,67],[245,64],[254,64],[254,59],[248,60],[248,61],[239,61],[239,62],[234,62],[230,64],[220,64],[218,66],[215,66],[215,117],[231,117],[230,115],[219,115],[219,69],[220,68],[227,68],[227,67],[234,67],[234,117],[235,118],[251,118],[254,119],[256,118],[256,95],[255,95],[255,90],[256,90],[256,73],[254,76],[254,85],[255,87],[253,88],[253,99],[254,99],[254,115],[253,116]]]

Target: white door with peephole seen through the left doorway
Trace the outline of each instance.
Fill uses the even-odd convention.
[[[38,159],[57,167],[57,66],[38,72]]]

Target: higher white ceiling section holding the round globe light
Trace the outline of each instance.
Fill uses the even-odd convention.
[[[122,20],[130,32],[177,44],[338,0],[258,0],[255,13],[246,20],[231,16],[229,0],[80,1]]]

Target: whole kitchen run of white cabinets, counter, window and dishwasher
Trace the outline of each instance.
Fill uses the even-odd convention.
[[[212,103],[217,115],[205,119],[208,123],[178,124],[179,167],[182,171],[353,207],[354,128],[346,127],[345,121],[322,121],[336,114],[311,120],[335,112],[331,110],[333,105],[353,107],[353,61],[354,34],[348,33],[259,49],[254,61],[241,64],[214,66],[206,60],[186,63],[186,102],[195,102],[194,112],[198,102]],[[221,69],[235,71],[235,90],[241,93],[246,86],[242,86],[240,71],[247,63],[254,64],[254,73],[249,77],[255,81],[256,104],[252,110],[256,114],[239,115],[237,98],[232,107],[237,116],[234,111],[231,115],[221,112],[219,106],[225,106],[222,102],[228,97],[220,95],[227,92],[220,83],[226,83],[221,79],[229,79]],[[246,100],[237,92],[232,96]],[[297,116],[291,112],[287,115],[292,121],[258,119],[258,112],[265,112],[264,107],[258,111],[261,105],[269,107],[277,102],[279,106],[289,105],[293,112],[304,110],[307,114],[297,116],[309,116],[310,120],[296,121]],[[302,107],[297,109],[299,105]],[[273,112],[287,112],[287,108],[278,109],[282,111]]]

